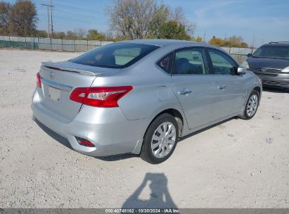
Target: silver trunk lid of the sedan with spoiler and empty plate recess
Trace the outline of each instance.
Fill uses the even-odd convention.
[[[68,120],[75,118],[82,104],[70,100],[76,87],[90,87],[98,75],[116,72],[116,69],[79,65],[69,61],[42,63],[39,71],[41,104]]]

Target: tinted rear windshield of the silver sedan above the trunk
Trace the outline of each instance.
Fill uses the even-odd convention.
[[[88,51],[70,62],[103,68],[126,68],[158,48],[148,44],[114,43]]]

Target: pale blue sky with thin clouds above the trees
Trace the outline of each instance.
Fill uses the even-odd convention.
[[[1,1],[1,0],[0,0]],[[8,0],[11,3],[15,0]],[[33,0],[39,13],[39,30],[47,29],[47,11],[41,4],[51,0]],[[162,0],[171,8],[181,6],[194,23],[195,36],[210,39],[242,36],[255,46],[270,41],[289,41],[289,0]],[[108,30],[105,8],[113,0],[53,0],[56,31],[81,27],[101,32]]]

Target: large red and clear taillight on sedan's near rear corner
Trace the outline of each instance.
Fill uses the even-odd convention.
[[[113,108],[118,107],[117,101],[132,89],[132,86],[76,88],[70,99],[88,106]]]

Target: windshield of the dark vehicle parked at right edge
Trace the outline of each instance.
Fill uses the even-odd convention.
[[[289,46],[262,46],[257,49],[253,56],[289,59]]]

